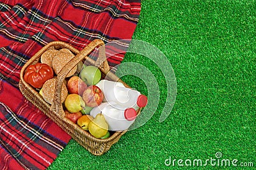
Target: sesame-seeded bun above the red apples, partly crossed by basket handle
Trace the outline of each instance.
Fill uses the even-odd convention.
[[[75,57],[72,53],[61,52],[59,51],[58,54],[52,59],[52,69],[56,74],[59,74],[61,69],[70,62],[71,59]],[[67,77],[72,76],[76,73],[77,66],[73,67],[67,74]]]

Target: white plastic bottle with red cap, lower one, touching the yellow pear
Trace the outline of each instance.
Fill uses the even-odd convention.
[[[137,113],[134,108],[125,108],[117,104],[102,103],[90,111],[92,117],[101,113],[109,126],[109,131],[124,131],[135,121]]]

